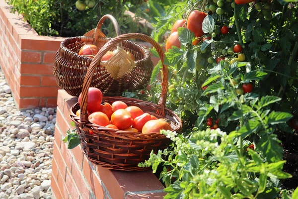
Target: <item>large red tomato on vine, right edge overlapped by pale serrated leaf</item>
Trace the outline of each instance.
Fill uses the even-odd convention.
[[[202,24],[206,16],[207,14],[205,12],[199,10],[192,11],[188,16],[187,29],[194,32],[196,37],[202,37],[204,34]]]

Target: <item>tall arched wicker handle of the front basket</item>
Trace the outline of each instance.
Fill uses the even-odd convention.
[[[100,49],[100,51],[92,59],[92,62],[88,67],[88,70],[84,79],[84,83],[83,83],[83,88],[82,88],[82,95],[81,95],[82,100],[80,104],[80,110],[81,110],[80,121],[82,125],[88,121],[88,114],[87,114],[88,89],[90,87],[90,83],[94,75],[95,68],[97,67],[103,55],[106,54],[106,52],[108,52],[110,48],[127,39],[140,39],[143,41],[147,41],[150,44],[152,44],[152,46],[158,52],[158,55],[162,63],[162,83],[161,83],[162,90],[161,90],[160,99],[158,101],[160,110],[157,109],[156,114],[162,115],[162,116],[165,115],[164,108],[165,108],[165,102],[166,102],[167,91],[168,91],[168,68],[166,65],[163,64],[164,52],[162,51],[162,48],[160,47],[160,45],[156,43],[151,37],[140,33],[129,33],[129,34],[123,34],[111,39]]]

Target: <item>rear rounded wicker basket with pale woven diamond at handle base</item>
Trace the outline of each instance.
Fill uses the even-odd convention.
[[[80,48],[85,44],[94,44],[101,48],[111,40],[100,31],[102,23],[107,18],[112,20],[117,35],[120,35],[116,19],[112,15],[104,15],[97,27],[84,36],[62,41],[55,55],[53,73],[56,82],[72,96],[78,97],[81,93],[84,77],[92,62],[92,58],[78,55]],[[97,62],[90,86],[100,89],[104,96],[120,96],[123,91],[145,87],[149,83],[153,69],[150,51],[128,40],[123,40],[110,48],[111,51],[115,49],[119,51],[108,61]],[[124,50],[131,52],[135,61]]]

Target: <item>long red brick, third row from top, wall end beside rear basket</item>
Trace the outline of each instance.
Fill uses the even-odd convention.
[[[53,64],[21,64],[21,74],[53,75]]]

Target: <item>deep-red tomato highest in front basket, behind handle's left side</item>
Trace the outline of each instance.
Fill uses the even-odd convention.
[[[81,104],[82,94],[78,96],[78,104]],[[90,87],[88,89],[87,110],[92,113],[100,110],[100,103],[102,100],[102,93],[99,89]]]

